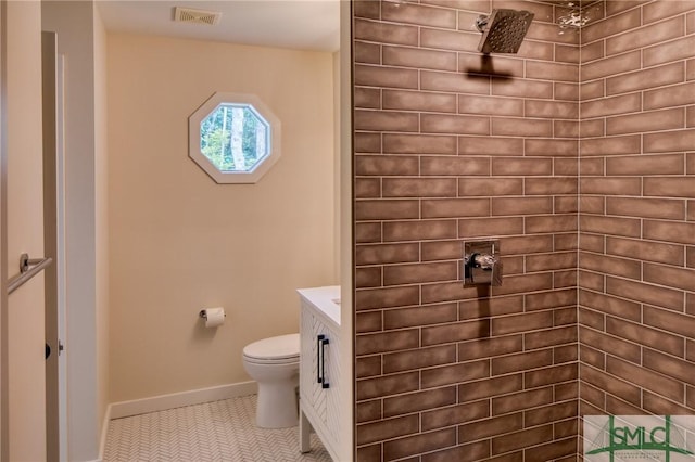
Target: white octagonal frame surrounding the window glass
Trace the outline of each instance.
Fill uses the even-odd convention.
[[[248,104],[268,123],[270,150],[249,171],[222,171],[200,151],[201,123],[224,103]],[[280,119],[255,94],[216,92],[188,118],[188,156],[218,184],[255,183],[280,158]]]

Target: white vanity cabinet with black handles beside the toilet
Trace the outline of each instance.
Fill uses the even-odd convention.
[[[333,460],[340,448],[340,287],[301,288],[300,450],[313,427]],[[309,426],[311,425],[311,426]]]

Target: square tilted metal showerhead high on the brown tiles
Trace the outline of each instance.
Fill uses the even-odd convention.
[[[490,15],[481,15],[476,27],[482,33],[478,51],[488,53],[516,53],[533,21],[530,11],[492,10]]]

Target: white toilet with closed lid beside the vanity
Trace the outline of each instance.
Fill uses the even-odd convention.
[[[247,345],[243,368],[258,384],[256,425],[262,428],[296,425],[300,334],[279,335]]]

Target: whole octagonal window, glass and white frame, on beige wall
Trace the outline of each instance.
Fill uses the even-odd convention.
[[[215,93],[189,131],[190,157],[218,183],[254,183],[280,155],[280,123],[252,94]]]

